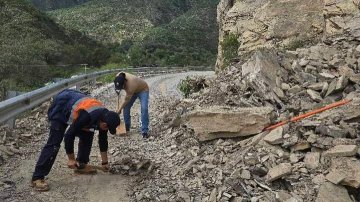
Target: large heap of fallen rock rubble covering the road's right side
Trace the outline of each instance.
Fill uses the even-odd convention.
[[[360,42],[332,40],[331,46],[256,52],[187,99],[159,101],[153,141],[164,144],[155,157],[163,160],[141,180],[146,186],[136,187],[137,199],[360,201],[360,64],[349,60],[360,57]],[[270,108],[275,118],[253,122],[269,126],[343,99],[351,102],[241,136],[252,114],[238,111]]]

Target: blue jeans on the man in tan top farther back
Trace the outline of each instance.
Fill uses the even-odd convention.
[[[130,130],[131,127],[131,116],[130,116],[130,110],[133,106],[136,99],[140,99],[141,104],[141,133],[148,133],[149,132],[149,91],[143,91],[140,93],[135,93],[130,101],[127,103],[127,105],[124,107],[124,122],[126,131]]]

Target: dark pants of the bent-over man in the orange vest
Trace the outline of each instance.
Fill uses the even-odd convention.
[[[35,166],[35,171],[32,176],[32,180],[44,179],[47,176],[54,165],[56,156],[59,152],[61,142],[64,138],[64,133],[67,128],[66,124],[59,121],[50,122],[50,134],[47,143],[41,150],[39,159]],[[86,135],[86,136],[85,136]],[[84,132],[79,135],[79,149],[77,160],[80,163],[88,163],[92,146],[94,133]]]

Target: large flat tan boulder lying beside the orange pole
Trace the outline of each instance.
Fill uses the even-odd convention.
[[[186,122],[199,139],[205,141],[258,134],[271,123],[273,116],[270,107],[229,109],[215,106],[190,112]]]

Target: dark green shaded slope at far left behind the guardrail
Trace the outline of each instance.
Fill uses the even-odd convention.
[[[77,31],[65,30],[25,0],[0,2],[0,29],[2,88],[39,87],[67,71],[49,65],[100,65],[108,57],[102,45]]]

